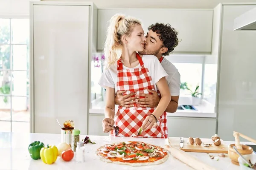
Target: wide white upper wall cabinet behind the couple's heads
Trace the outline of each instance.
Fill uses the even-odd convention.
[[[157,22],[171,24],[179,32],[178,38],[181,40],[175,48],[176,54],[211,53],[212,9],[99,9],[97,42],[99,51],[103,49],[108,20],[117,13],[141,20],[145,33],[151,24]]]

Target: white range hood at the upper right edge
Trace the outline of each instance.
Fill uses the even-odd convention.
[[[256,8],[237,17],[234,20],[234,30],[256,30]]]

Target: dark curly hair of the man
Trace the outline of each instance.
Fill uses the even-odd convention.
[[[148,31],[156,32],[159,39],[163,41],[163,46],[168,48],[168,51],[163,53],[163,56],[168,56],[178,45],[177,31],[170,24],[155,23],[148,27]]]

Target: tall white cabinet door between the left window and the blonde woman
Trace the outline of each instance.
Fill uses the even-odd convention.
[[[34,131],[87,133],[89,6],[34,5]]]

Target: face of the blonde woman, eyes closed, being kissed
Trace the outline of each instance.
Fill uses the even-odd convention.
[[[126,37],[127,44],[125,48],[131,51],[143,51],[146,41],[142,26],[135,26],[129,37]]]

